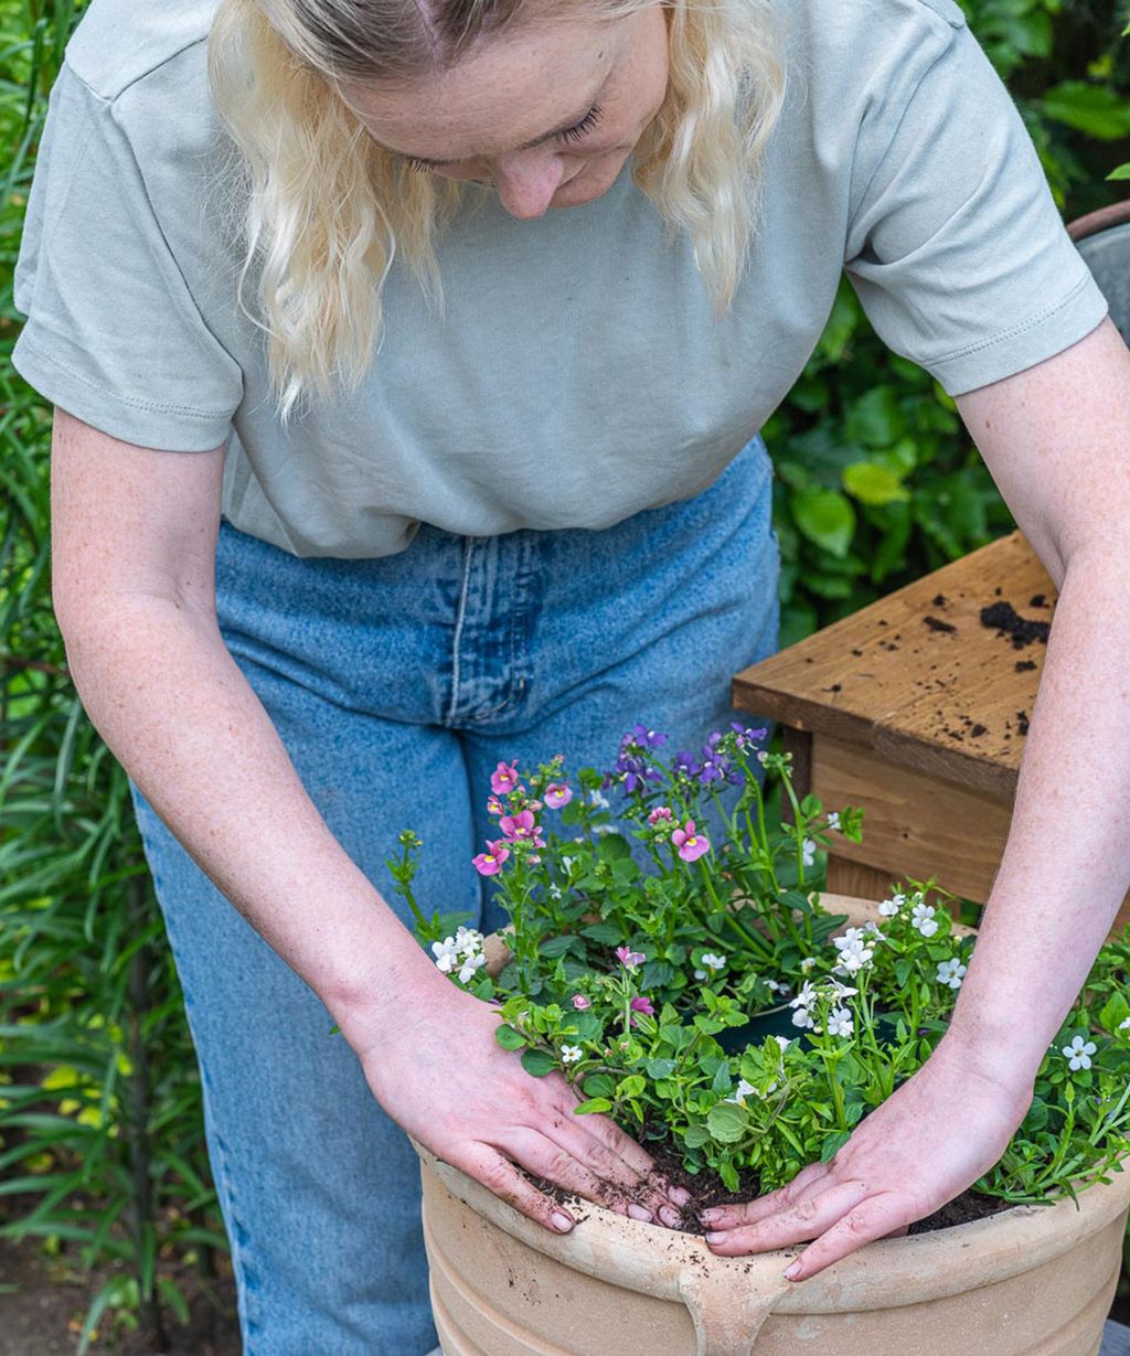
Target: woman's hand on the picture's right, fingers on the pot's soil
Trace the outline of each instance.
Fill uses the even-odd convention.
[[[815,1239],[785,1271],[806,1280],[875,1238],[905,1234],[1000,1159],[1031,1105],[1034,1077],[978,1059],[951,1031],[829,1162],[747,1204],[701,1211],[707,1243],[738,1257]]]

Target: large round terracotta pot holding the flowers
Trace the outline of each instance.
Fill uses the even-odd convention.
[[[865,900],[823,904],[876,917]],[[572,1233],[551,1234],[415,1147],[444,1356],[1095,1356],[1130,1208],[1130,1173],[1115,1172],[1078,1207],[879,1239],[792,1284],[799,1246],[715,1257],[587,1201]]]

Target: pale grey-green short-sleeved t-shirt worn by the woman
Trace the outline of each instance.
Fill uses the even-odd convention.
[[[229,439],[224,515],[298,556],[391,555],[421,521],[604,527],[697,494],[800,376],[845,268],[883,340],[950,395],[1107,313],[954,0],[781,0],[766,222],[723,319],[629,167],[536,221],[476,193],[441,240],[442,315],[393,267],[366,380],[285,433],[208,205],[213,8],[92,0],[52,92],[12,361],[128,442]]]

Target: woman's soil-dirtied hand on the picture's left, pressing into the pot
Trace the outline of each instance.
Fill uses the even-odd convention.
[[[499,1021],[491,1003],[433,980],[357,1050],[373,1096],[438,1158],[547,1229],[568,1233],[574,1218],[520,1168],[634,1219],[678,1224],[689,1193],[606,1116],[577,1116],[559,1073],[528,1074],[495,1040]]]

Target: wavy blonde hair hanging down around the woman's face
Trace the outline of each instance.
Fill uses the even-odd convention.
[[[570,9],[615,19],[654,3],[667,11],[670,73],[632,174],[669,225],[689,235],[720,313],[764,220],[762,157],[784,104],[783,34],[773,0],[575,0]],[[442,305],[437,241],[473,191],[383,149],[339,87],[426,77],[521,16],[522,0],[220,0],[208,75],[240,190],[225,197],[239,205],[244,248],[236,290],[267,335],[284,423],[311,389],[330,397],[335,385],[362,381],[397,251]],[[255,316],[244,283],[258,264]]]

